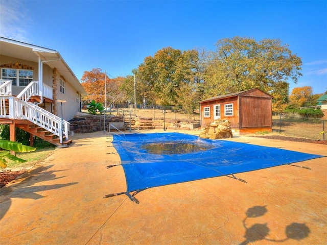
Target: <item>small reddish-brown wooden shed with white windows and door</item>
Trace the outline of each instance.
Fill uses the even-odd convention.
[[[272,131],[272,96],[254,88],[200,102],[201,127],[218,119],[230,121],[236,134]]]

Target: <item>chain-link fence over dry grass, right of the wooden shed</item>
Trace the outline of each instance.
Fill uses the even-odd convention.
[[[273,117],[272,130],[291,137],[325,140],[327,120],[278,115]]]

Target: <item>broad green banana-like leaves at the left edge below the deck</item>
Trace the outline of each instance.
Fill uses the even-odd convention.
[[[24,145],[24,144],[19,143],[19,142],[13,142],[13,141],[4,140],[4,139],[0,139],[0,149],[5,150],[0,154],[0,167],[2,167],[2,168],[7,167],[7,160],[6,159],[10,159],[10,160],[13,160],[15,162],[26,162],[26,160],[24,160],[24,159],[20,159],[20,158],[14,156],[14,155],[11,155],[10,151],[13,151],[13,152],[32,152],[32,151],[36,150],[34,147],[27,146],[27,145]]]

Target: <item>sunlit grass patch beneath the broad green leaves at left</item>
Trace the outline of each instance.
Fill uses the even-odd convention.
[[[37,149],[34,152],[16,153],[16,157],[26,160],[27,162],[15,162],[7,160],[7,168],[29,168],[49,157],[55,151],[55,146],[48,148]],[[3,153],[0,151],[0,156]]]

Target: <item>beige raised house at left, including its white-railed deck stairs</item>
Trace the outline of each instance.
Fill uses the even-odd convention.
[[[10,125],[11,140],[16,127],[56,145],[67,140],[86,91],[61,55],[0,37],[0,68],[0,124]]]

